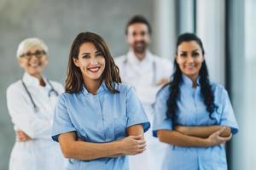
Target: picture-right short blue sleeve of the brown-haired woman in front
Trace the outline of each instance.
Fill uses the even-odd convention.
[[[127,127],[142,124],[144,132],[148,131],[150,123],[148,122],[148,117],[143,109],[143,105],[137,97],[134,88],[127,90],[126,105],[126,113],[128,117]]]

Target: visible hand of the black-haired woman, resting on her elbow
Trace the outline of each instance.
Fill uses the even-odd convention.
[[[229,141],[232,138],[232,133],[230,133],[229,137],[221,137],[220,134],[226,130],[227,127],[221,127],[218,131],[212,133],[208,138],[207,138],[207,143],[212,146],[212,145],[218,145],[218,144],[224,144],[227,141]]]

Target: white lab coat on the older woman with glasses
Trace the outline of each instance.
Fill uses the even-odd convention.
[[[51,139],[57,96],[51,93],[48,82],[42,87],[37,78],[25,73],[23,81],[32,95],[38,111],[34,111],[32,101],[22,86],[21,80],[7,89],[7,105],[15,131],[24,131],[32,140],[15,141],[9,160],[9,170],[53,170],[64,169],[65,159],[59,144]],[[50,81],[51,82],[51,81]],[[58,82],[51,82],[61,94],[64,89]]]

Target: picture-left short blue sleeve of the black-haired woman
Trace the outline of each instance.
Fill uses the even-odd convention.
[[[169,96],[169,86],[160,89],[154,103],[153,136],[157,137],[157,131],[162,129],[172,130],[172,119],[166,115],[166,101]]]

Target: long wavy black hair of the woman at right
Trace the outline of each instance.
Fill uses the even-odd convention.
[[[202,54],[205,54],[203,44],[201,39],[193,33],[184,33],[177,37],[176,49],[182,42],[195,41],[201,47]],[[177,51],[176,51],[177,54]],[[172,75],[172,82],[168,83],[170,85],[170,95],[167,99],[167,116],[171,116],[173,126],[176,124],[177,120],[177,98],[180,95],[180,83],[182,82],[182,71],[177,65],[176,59],[174,59],[174,73]],[[199,82],[201,85],[201,97],[204,101],[204,104],[207,106],[207,111],[209,112],[209,117],[212,119],[212,112],[217,108],[214,104],[214,95],[212,92],[212,86],[209,81],[209,75],[207,70],[207,64],[205,59],[201,64],[201,69],[199,71]]]

